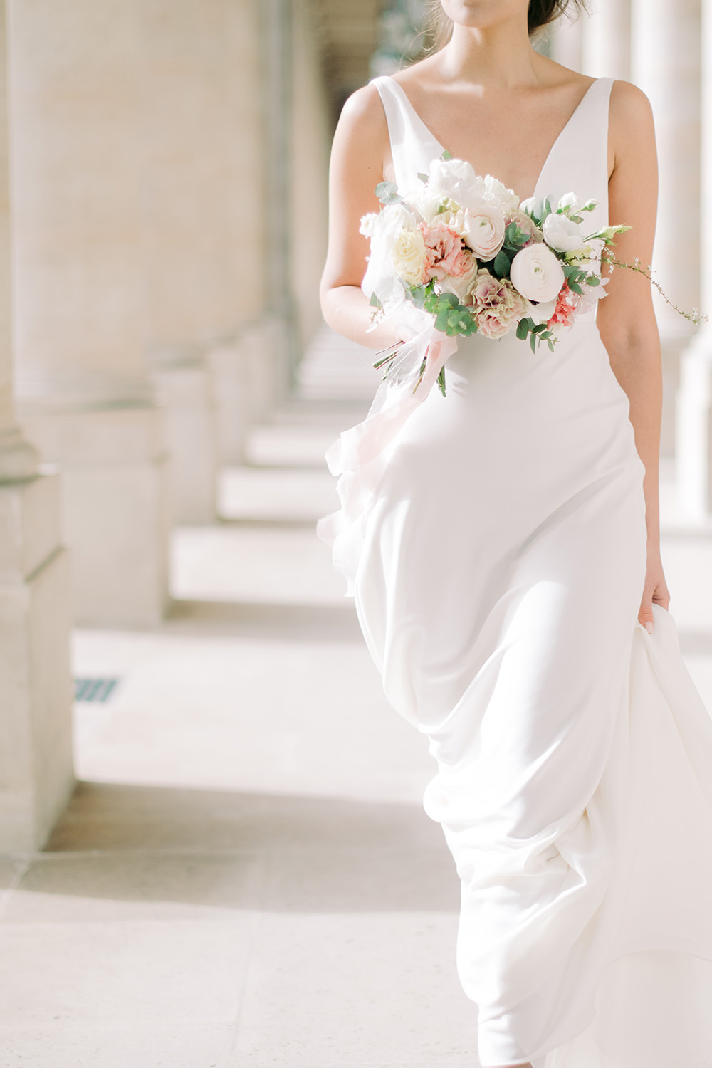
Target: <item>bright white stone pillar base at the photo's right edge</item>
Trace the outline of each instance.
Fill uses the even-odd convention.
[[[712,329],[702,328],[681,357],[676,425],[678,502],[702,522],[712,514]]]

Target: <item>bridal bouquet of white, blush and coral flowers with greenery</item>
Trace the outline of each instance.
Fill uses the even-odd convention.
[[[557,335],[604,295],[601,253],[630,227],[588,233],[596,201],[581,204],[567,193],[557,205],[547,197],[520,203],[496,178],[479,177],[447,153],[418,177],[421,187],[407,198],[394,183],[380,183],[381,211],[361,220],[370,239],[362,288],[376,309],[374,326],[402,313],[408,301],[447,336],[497,339],[516,330],[533,351],[541,342],[553,349]],[[417,359],[415,389],[427,357]],[[404,367],[397,348],[375,366],[385,368],[386,381],[402,381],[413,370]],[[444,366],[438,384],[444,395]]]

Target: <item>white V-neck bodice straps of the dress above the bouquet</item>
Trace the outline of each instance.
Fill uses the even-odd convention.
[[[413,108],[402,87],[389,75],[374,78],[389,126],[396,184],[401,191],[415,188],[418,173],[427,172],[443,145]],[[597,78],[554,141],[539,172],[535,195],[555,198],[575,192],[596,200],[591,216],[596,226],[608,221],[608,104],[612,78]],[[475,168],[477,170],[477,168]],[[479,172],[478,172],[479,173]],[[499,177],[499,175],[494,175]],[[520,190],[515,190],[521,193]]]

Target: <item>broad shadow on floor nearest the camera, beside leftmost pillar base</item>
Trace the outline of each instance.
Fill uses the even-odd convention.
[[[417,805],[90,782],[18,890],[57,895],[60,912],[77,908],[60,897],[280,913],[459,908],[442,832]]]

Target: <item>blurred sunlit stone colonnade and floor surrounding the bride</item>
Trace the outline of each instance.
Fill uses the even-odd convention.
[[[648,93],[658,278],[712,313],[712,3],[590,6],[537,47]],[[476,1065],[430,760],[314,532],[378,383],[318,307],[330,141],[424,9],[0,2],[6,1064]],[[712,333],[658,311],[712,703]]]

